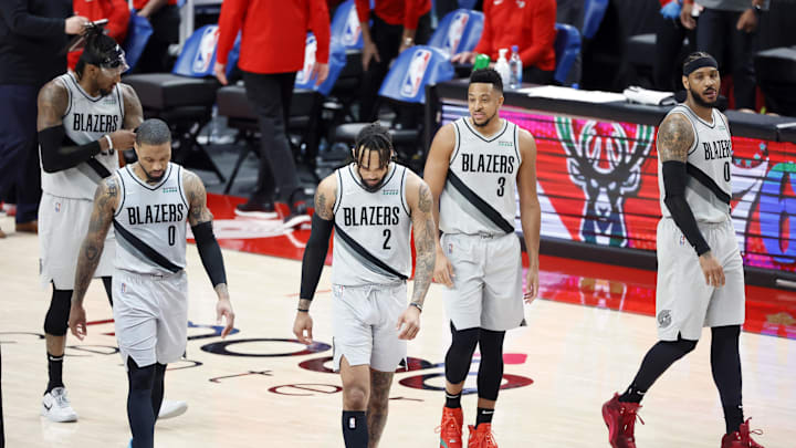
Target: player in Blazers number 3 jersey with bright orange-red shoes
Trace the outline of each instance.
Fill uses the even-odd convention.
[[[498,72],[474,71],[468,87],[470,116],[440,128],[426,162],[423,177],[444,233],[436,238],[434,279],[448,286],[444,303],[452,333],[439,428],[443,448],[462,446],[461,392],[476,344],[481,347],[479,402],[468,446],[498,446],[492,415],[503,377],[503,337],[506,330],[523,323],[523,298],[530,303],[538,292],[536,144],[531,133],[499,116],[502,104]],[[514,233],[515,191],[530,260],[524,295],[520,240]]]

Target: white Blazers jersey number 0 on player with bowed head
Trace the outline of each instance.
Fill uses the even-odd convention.
[[[116,269],[168,275],[186,265],[188,201],[182,167],[169,164],[163,180],[148,185],[129,165],[116,171],[122,198],[114,215]]]

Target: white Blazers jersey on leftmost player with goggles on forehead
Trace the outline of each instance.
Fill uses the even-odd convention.
[[[69,107],[63,116],[63,126],[72,142],[85,145],[122,128],[124,102],[118,85],[114,86],[109,95],[92,97],[71,73],[62,74],[55,80],[69,92]],[[57,173],[44,173],[42,169],[42,190],[61,198],[92,200],[100,180],[117,169],[117,154],[97,154],[87,162]]]

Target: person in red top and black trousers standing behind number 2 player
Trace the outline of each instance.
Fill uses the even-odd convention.
[[[431,0],[376,0],[374,4],[371,14],[369,0],[356,0],[364,41],[362,122],[373,122],[378,116],[376,96],[390,62],[407,48],[426,43],[431,37]]]

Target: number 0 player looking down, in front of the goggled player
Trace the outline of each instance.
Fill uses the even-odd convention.
[[[186,222],[190,223],[202,264],[218,295],[224,337],[234,314],[227,277],[207,209],[205,185],[193,173],[171,164],[171,133],[153,118],[138,126],[138,162],[102,180],[94,196],[88,233],[81,246],[69,325],[83,340],[83,298],[100,264],[107,232],[116,231],[113,272],[114,321],[119,353],[127,366],[127,414],[133,448],[151,448],[168,363],[185,353],[188,329]]]

